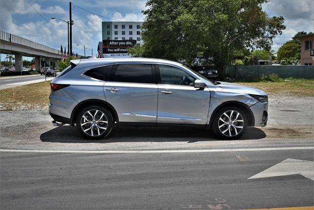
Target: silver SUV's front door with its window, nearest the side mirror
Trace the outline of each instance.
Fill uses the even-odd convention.
[[[194,88],[195,78],[181,68],[157,65],[159,69],[157,123],[206,124],[209,89]]]

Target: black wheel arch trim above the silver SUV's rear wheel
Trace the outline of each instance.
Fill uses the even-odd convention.
[[[78,114],[78,112],[83,109],[86,106],[101,106],[106,108],[112,115],[113,117],[113,122],[118,122],[119,118],[118,118],[118,114],[117,111],[113,108],[113,106],[111,104],[109,104],[106,101],[100,100],[100,99],[88,99],[88,100],[84,100],[79,102],[74,109],[72,110],[71,113],[71,119],[70,119],[70,125],[74,126],[75,123],[75,116]]]

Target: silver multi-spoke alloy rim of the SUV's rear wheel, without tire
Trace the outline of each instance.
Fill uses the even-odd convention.
[[[85,112],[80,120],[82,130],[89,136],[100,136],[108,127],[108,120],[100,110],[89,110]]]

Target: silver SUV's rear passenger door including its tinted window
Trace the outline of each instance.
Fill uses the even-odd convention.
[[[120,122],[157,122],[155,65],[120,63],[104,85],[105,98],[117,111]]]

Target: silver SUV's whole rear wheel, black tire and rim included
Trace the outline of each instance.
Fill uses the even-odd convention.
[[[104,115],[103,115],[104,114]],[[78,131],[88,139],[103,139],[113,127],[112,115],[101,106],[88,106],[78,112]]]

